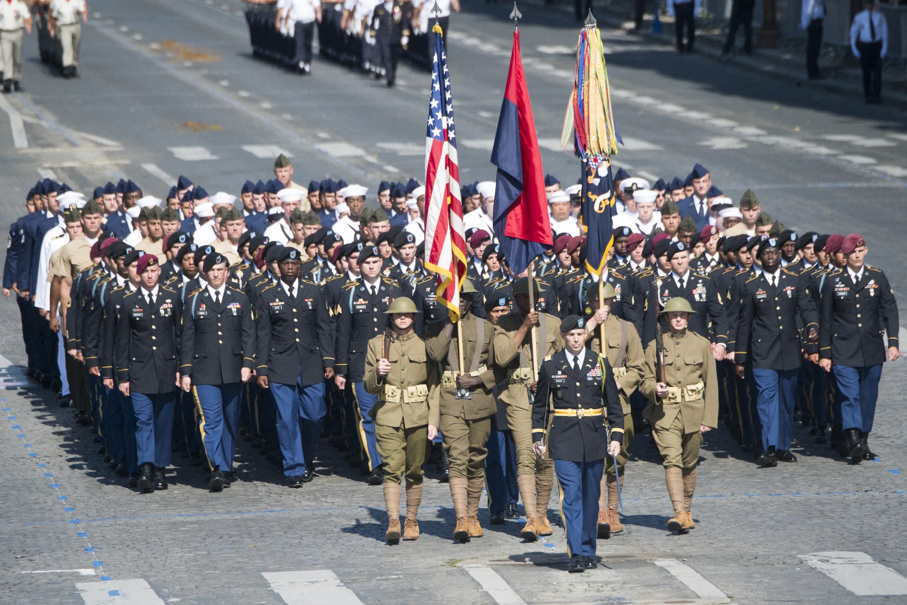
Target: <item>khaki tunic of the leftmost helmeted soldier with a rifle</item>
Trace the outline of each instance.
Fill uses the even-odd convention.
[[[405,428],[418,428],[426,424],[438,426],[440,412],[438,411],[439,387],[441,379],[438,376],[438,365],[428,359],[425,351],[425,342],[415,333],[406,336],[391,334],[390,352],[387,361],[391,363],[391,371],[385,376],[384,384],[378,384],[378,360],[384,356],[385,337],[379,335],[368,341],[366,349],[366,376],[363,385],[368,393],[378,395],[378,402],[372,406],[369,415],[375,419],[375,424],[383,426]],[[399,402],[387,401],[385,386],[396,386],[405,389],[407,386],[425,385],[427,398],[425,401],[406,403],[404,397],[398,397]]]

